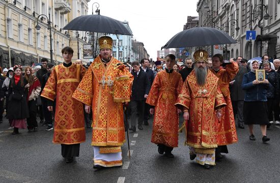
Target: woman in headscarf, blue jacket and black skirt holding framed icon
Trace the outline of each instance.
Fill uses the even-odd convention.
[[[263,142],[270,140],[266,136],[266,125],[268,124],[267,115],[267,89],[269,81],[259,81],[256,79],[256,70],[260,67],[258,60],[250,63],[250,72],[244,74],[242,81],[242,89],[245,90],[244,98],[244,124],[249,127],[249,139],[256,140],[253,125],[260,125]]]

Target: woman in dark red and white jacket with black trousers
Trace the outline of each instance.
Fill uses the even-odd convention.
[[[29,109],[29,117],[26,119],[28,132],[36,132],[38,128],[38,123],[36,120],[37,106],[36,99],[40,95],[41,85],[40,81],[36,76],[32,75],[31,67],[25,68],[24,79],[25,82],[29,83],[28,93],[27,93],[27,104]]]

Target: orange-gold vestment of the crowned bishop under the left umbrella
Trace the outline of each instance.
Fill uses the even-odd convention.
[[[92,106],[92,145],[103,146],[104,148],[100,147],[100,153],[120,152],[120,146],[125,141],[121,102],[128,100],[115,96],[115,101],[121,102],[114,102],[114,82],[122,80],[120,75],[128,76],[130,86],[123,85],[123,92],[127,93],[131,90],[133,76],[127,70],[122,70],[120,74],[119,64],[121,64],[119,60],[111,57],[105,67],[100,56],[95,58],[72,96]],[[120,89],[115,88],[115,91],[119,93]]]

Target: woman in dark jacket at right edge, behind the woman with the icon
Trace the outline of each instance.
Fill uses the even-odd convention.
[[[279,97],[279,78],[278,78],[278,73],[272,68],[273,64],[265,61],[263,63],[262,69],[265,70],[265,77],[269,81],[269,88],[267,90],[266,98],[267,98],[267,108],[268,108],[268,120],[269,120],[269,125],[267,128],[270,126],[270,124],[273,124],[273,113],[272,111],[274,110],[275,106],[275,98]],[[278,104],[279,105],[279,104]],[[276,112],[274,112],[274,119],[275,119],[275,124],[279,125],[280,124],[280,117],[279,115],[276,115]]]

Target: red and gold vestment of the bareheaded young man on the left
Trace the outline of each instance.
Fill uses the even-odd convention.
[[[43,89],[42,97],[56,100],[53,143],[77,144],[86,141],[82,103],[71,97],[85,72],[81,65],[55,66]]]

